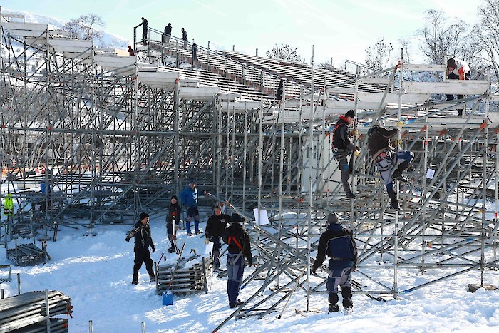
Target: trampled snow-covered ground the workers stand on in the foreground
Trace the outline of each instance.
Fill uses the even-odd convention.
[[[202,223],[201,227],[204,226]],[[169,246],[163,217],[153,215],[151,227],[157,249],[152,257],[158,261]],[[46,289],[63,292],[71,297],[73,304],[69,332],[89,332],[89,320],[93,322],[93,332],[141,332],[142,322],[145,332],[212,332],[232,314],[227,303],[226,278],[210,277],[209,292],[175,296],[173,306],[162,305],[162,297],[156,294],[155,284],[148,281],[145,267],[140,270],[139,285],[131,285],[133,242],[125,242],[129,228],[129,225],[99,225],[95,236],[84,236],[88,230],[63,227],[58,240],[48,242],[51,261],[34,267],[12,265],[14,279],[1,283],[5,296],[17,294],[16,273],[20,273],[21,292]],[[178,241],[186,242],[185,252],[191,248],[197,253],[204,252],[202,237],[187,237],[185,230],[181,230]],[[2,257],[0,264],[11,263]],[[166,257],[167,262],[175,262],[177,256],[167,253]],[[246,269],[245,276],[251,270],[254,268]],[[430,270],[427,275],[408,274],[407,278],[423,282],[438,274],[438,270]],[[389,272],[385,278],[390,285],[393,277]],[[362,277],[354,272],[354,279]],[[400,279],[402,284],[403,275]],[[312,287],[320,281],[314,277]],[[472,271],[387,302],[354,294],[354,312],[347,315],[328,314],[326,294],[316,294],[309,307],[319,308],[320,312],[304,317],[294,312],[307,307],[304,292],[297,290],[281,319],[277,317],[284,302],[279,304],[278,312],[263,319],[254,316],[230,319],[220,332],[498,332],[499,290],[468,292],[468,283],[479,282],[480,272]],[[485,282],[499,285],[498,272],[485,272]],[[240,299],[254,294],[260,283],[250,282],[241,291]]]

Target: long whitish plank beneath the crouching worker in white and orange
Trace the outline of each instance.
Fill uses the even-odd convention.
[[[409,93],[446,93],[480,95],[490,87],[482,80],[447,80],[446,82],[404,82],[403,88]]]

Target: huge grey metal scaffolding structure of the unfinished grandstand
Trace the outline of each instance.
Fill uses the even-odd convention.
[[[307,295],[325,292],[308,267],[329,212],[354,231],[362,282],[353,287],[372,299],[468,272],[483,285],[497,269],[499,98],[488,80],[409,81],[411,71],[443,76],[446,66],[403,60],[360,76],[209,47],[192,58],[154,29],[137,57],[122,57],[23,16],[1,14],[0,24],[0,185],[19,208],[1,221],[11,232],[4,244],[24,221],[54,240],[61,225],[131,223],[146,208],[167,209],[194,178],[210,193],[207,207],[227,202],[249,221],[259,266],[243,285],[262,278],[257,294],[272,290],[253,308],[295,280]],[[289,80],[275,101],[280,78]],[[467,97],[432,99],[446,93]],[[362,152],[355,200],[343,198],[331,151],[331,125],[349,109]],[[366,154],[373,123],[401,128],[399,147],[416,155],[411,182],[397,186],[400,211],[389,209]],[[268,225],[255,222],[266,213]],[[422,283],[414,271],[430,277]]]

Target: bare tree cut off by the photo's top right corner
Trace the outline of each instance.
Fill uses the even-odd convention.
[[[493,79],[499,82],[499,0],[482,0],[478,8],[479,24],[473,36],[483,68],[490,68]]]

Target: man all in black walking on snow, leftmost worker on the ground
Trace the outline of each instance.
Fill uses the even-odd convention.
[[[135,252],[135,260],[133,260],[133,285],[138,285],[138,270],[145,264],[145,269],[148,270],[150,282],[155,282],[156,277],[153,270],[153,260],[150,257],[149,247],[155,251],[153,238],[150,234],[149,215],[145,212],[140,213],[140,220],[135,223],[133,230],[128,232],[125,240],[130,242],[132,237],[135,237],[135,245],[133,252]]]

